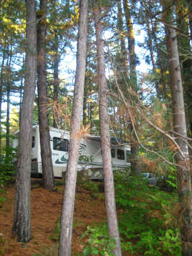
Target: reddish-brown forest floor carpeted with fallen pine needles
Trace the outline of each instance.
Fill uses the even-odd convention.
[[[56,248],[56,241],[50,237],[61,216],[63,186],[56,186],[55,191],[47,191],[39,185],[40,180],[31,179],[31,230],[32,239],[29,243],[17,242],[12,234],[15,186],[9,185],[3,195],[6,201],[0,208],[0,255],[3,256],[34,256],[47,255],[45,248]],[[100,184],[102,186],[103,184]],[[102,190],[102,189],[101,189]],[[74,228],[72,234],[72,255],[83,251],[84,240],[81,237],[88,225],[102,223],[106,220],[104,192],[97,196],[81,185],[76,188],[74,209]],[[42,253],[44,251],[44,253]],[[56,255],[55,253],[51,255]],[[124,253],[129,256],[129,253]]]

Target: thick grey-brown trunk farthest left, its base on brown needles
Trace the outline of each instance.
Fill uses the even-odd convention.
[[[36,83],[36,4],[26,0],[26,77],[20,118],[19,159],[15,180],[13,232],[18,240],[31,239],[31,138]]]

